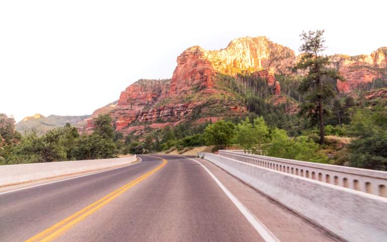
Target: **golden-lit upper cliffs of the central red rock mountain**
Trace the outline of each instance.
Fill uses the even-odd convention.
[[[275,73],[288,72],[288,67],[295,63],[293,50],[273,43],[265,36],[238,38],[220,50],[193,46],[177,57],[170,95],[190,92],[192,87],[198,90],[212,89],[216,73],[234,76],[241,72],[252,73],[268,69],[272,78]],[[274,81],[272,85],[279,84]]]

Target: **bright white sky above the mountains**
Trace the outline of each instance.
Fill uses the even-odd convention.
[[[315,4],[314,4],[315,3]],[[1,1],[0,112],[83,115],[140,78],[170,78],[192,45],[266,35],[298,52],[326,30],[327,54],[387,46],[387,1]]]

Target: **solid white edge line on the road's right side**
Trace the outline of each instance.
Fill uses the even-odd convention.
[[[257,219],[251,212],[248,210],[219,180],[216,176],[202,163],[197,160],[187,158],[193,161],[198,162],[215,180],[218,186],[223,190],[227,197],[234,203],[234,205],[239,209],[247,221],[255,228],[255,230],[264,238],[266,242],[280,242],[280,240],[270,231],[265,224],[263,224],[259,219]]]

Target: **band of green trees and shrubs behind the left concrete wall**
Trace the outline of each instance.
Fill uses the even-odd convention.
[[[100,115],[94,119],[95,132],[92,135],[79,135],[77,129],[69,123],[62,128],[48,131],[38,136],[32,130],[18,142],[8,142],[0,146],[0,164],[22,164],[52,162],[64,160],[103,159],[116,157],[118,150],[113,141],[114,130],[109,115]],[[15,127],[8,128],[8,134]]]

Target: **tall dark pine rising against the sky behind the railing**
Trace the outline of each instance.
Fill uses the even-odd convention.
[[[324,30],[302,32],[301,40],[304,43],[300,47],[301,59],[295,67],[306,70],[307,75],[303,78],[299,91],[305,95],[302,105],[302,113],[311,117],[312,122],[318,120],[320,131],[320,144],[324,144],[324,104],[335,96],[334,83],[343,80],[335,69],[328,68],[330,61],[328,56],[323,56]]]

